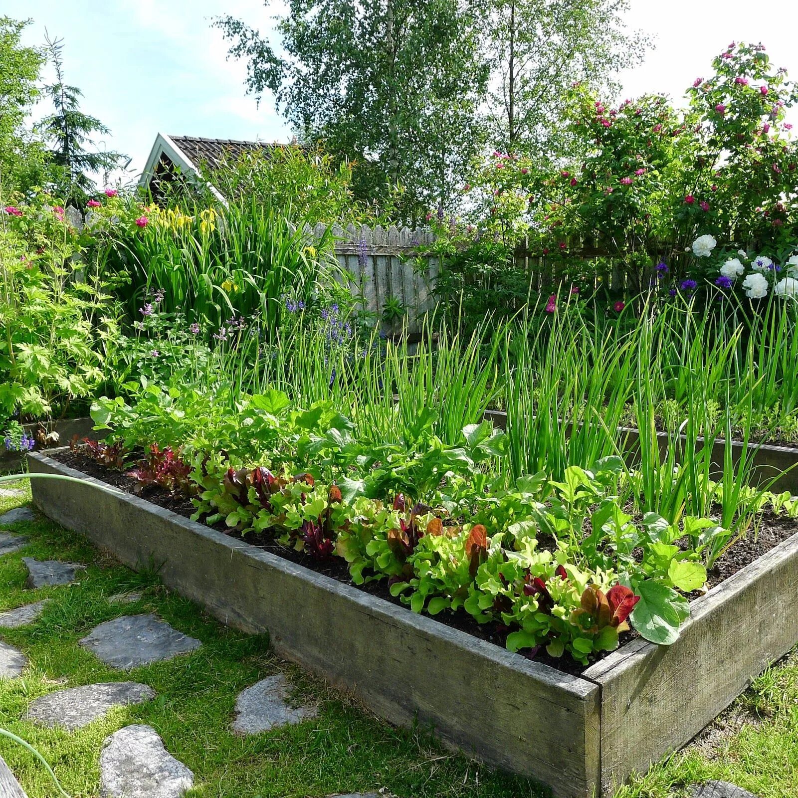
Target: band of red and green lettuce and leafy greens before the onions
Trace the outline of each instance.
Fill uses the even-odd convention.
[[[756,513],[768,504],[798,515],[788,494],[753,489],[737,497],[740,512],[726,526],[642,513],[639,476],[618,456],[571,466],[563,480],[508,479],[500,429],[467,425],[446,444],[433,432],[433,409],[404,440],[376,444],[329,401],[296,409],[269,389],[240,401],[226,422],[220,405],[218,396],[145,385],[139,403],[97,402],[94,421],[109,437],[81,449],[142,488],[192,496],[195,519],[310,559],[340,557],[353,583],[384,579],[413,611],[466,613],[529,655],[545,647],[587,665],[616,648],[630,623],[652,642],[674,642],[687,596],[705,588],[707,569]]]

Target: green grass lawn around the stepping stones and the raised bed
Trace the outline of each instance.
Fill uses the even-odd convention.
[[[0,496],[0,512],[28,496]],[[32,743],[53,766],[73,798],[97,796],[102,741],[124,725],[151,725],[167,750],[195,774],[188,796],[206,798],[300,798],[385,789],[401,798],[484,796],[543,798],[545,788],[493,771],[443,749],[424,729],[394,729],[350,697],[326,687],[296,666],[269,654],[268,640],[221,626],[202,610],[161,586],[156,575],[136,574],[90,547],[78,535],[46,519],[18,523],[30,544],[0,557],[0,611],[50,599],[30,626],[2,630],[0,637],[29,659],[22,678],[0,681],[0,727]],[[84,563],[69,587],[24,589],[23,556]],[[132,604],[109,597],[141,592]],[[98,623],[125,614],[154,612],[202,648],[170,662],[128,672],[103,665],[77,645]],[[744,622],[744,619],[741,619]],[[317,702],[318,718],[255,737],[230,732],[235,697],[276,673],[286,674],[303,702]],[[445,678],[445,674],[430,674]],[[41,729],[20,720],[30,701],[54,689],[97,681],[140,681],[156,690],[154,701],[113,709],[77,732]],[[689,707],[685,707],[689,711]],[[798,657],[760,677],[734,707],[750,723],[715,745],[689,749],[658,765],[616,798],[666,798],[696,780],[723,779],[761,798],[798,795]],[[545,718],[530,718],[545,723]],[[0,738],[0,755],[30,798],[57,796],[41,764]]]

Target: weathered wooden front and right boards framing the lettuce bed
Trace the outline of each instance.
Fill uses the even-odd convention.
[[[97,480],[29,455],[30,470]],[[389,721],[551,785],[614,784],[684,745],[798,642],[798,534],[692,604],[673,646],[634,640],[581,676],[511,654],[125,492],[32,480],[45,515],[132,568],[156,568],[223,622]],[[97,483],[99,484],[99,483]]]

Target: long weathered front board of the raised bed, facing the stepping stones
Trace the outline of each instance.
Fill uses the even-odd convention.
[[[32,472],[84,476],[35,453]],[[599,689],[377,599],[174,512],[88,483],[32,480],[34,502],[223,622],[270,635],[278,654],[354,691],[389,721],[432,725],[466,753],[593,798]]]

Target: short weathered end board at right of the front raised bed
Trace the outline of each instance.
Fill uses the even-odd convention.
[[[583,674],[602,692],[602,789],[681,748],[798,642],[798,535],[707,595],[673,646],[642,640]]]

